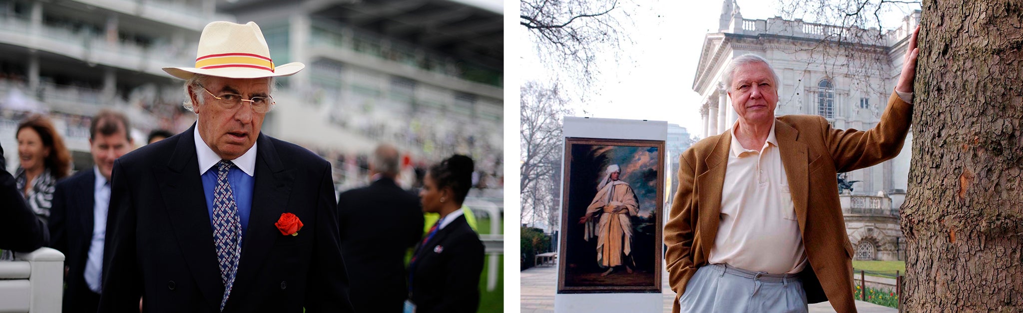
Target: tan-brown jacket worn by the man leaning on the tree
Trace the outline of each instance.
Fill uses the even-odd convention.
[[[874,129],[838,130],[819,116],[776,118],[774,136],[809,266],[800,273],[807,301],[831,301],[838,312],[855,312],[852,300],[852,245],[838,198],[839,172],[877,165],[898,155],[913,118],[913,105],[892,93]],[[701,266],[707,265],[721,223],[721,188],[731,133],[700,140],[678,162],[678,190],[664,227],[668,281],[678,298]]]

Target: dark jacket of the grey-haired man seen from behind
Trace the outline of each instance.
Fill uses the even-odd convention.
[[[381,178],[338,197],[341,251],[357,312],[402,312],[405,253],[422,235],[418,196]]]

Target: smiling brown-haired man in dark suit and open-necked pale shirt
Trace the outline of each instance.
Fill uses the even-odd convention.
[[[130,123],[123,114],[101,110],[89,127],[95,164],[61,180],[50,209],[50,247],[64,254],[63,312],[96,312],[99,307],[114,161],[132,150]]]

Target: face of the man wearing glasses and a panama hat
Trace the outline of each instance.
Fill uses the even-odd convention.
[[[240,94],[244,99],[270,95],[270,79],[229,79],[210,77],[204,86],[211,93],[220,96],[225,93]],[[195,88],[195,87],[192,87]],[[197,92],[196,92],[197,91]],[[206,91],[190,92],[194,110],[198,115],[199,137],[223,160],[234,160],[256,144],[263,127],[265,113],[253,111],[252,106],[242,101],[233,108],[224,108],[216,98]],[[205,97],[199,104],[195,94]]]

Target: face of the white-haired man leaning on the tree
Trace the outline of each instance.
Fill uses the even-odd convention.
[[[774,120],[777,87],[770,68],[761,62],[739,66],[731,78],[728,97],[739,119],[746,123],[767,123]]]

